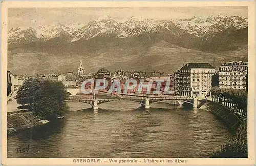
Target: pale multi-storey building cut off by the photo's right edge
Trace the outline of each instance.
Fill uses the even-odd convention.
[[[248,62],[230,61],[219,68],[220,88],[247,89]]]

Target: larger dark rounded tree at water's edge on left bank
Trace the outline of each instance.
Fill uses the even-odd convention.
[[[62,82],[45,80],[34,96],[32,111],[42,118],[56,117],[65,111],[67,97]]]

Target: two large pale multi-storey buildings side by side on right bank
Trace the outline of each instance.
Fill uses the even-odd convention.
[[[174,74],[180,96],[210,96],[211,88],[247,89],[248,62],[231,61],[215,69],[208,63],[188,63]]]

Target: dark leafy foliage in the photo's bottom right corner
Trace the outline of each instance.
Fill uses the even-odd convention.
[[[234,137],[228,139],[219,151],[211,154],[213,158],[247,158],[247,124],[241,124]]]

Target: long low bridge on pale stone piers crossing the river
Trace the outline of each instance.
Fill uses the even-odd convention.
[[[133,101],[141,104],[142,108],[149,109],[151,103],[156,103],[164,100],[177,100],[179,102],[179,105],[183,105],[183,103],[188,103],[190,105],[193,105],[194,108],[197,108],[199,106],[199,100],[197,98],[193,97],[182,97],[182,96],[176,96],[176,97],[133,97],[133,98],[104,98],[104,99],[67,99],[65,101],[79,101],[88,103],[92,106],[94,110],[98,109],[98,105],[105,102],[111,102],[111,101]]]

